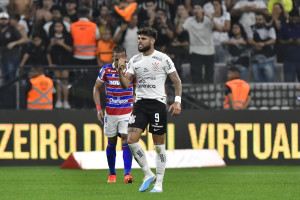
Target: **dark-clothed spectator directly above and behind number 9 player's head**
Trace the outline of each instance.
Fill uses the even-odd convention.
[[[170,45],[174,37],[174,27],[170,20],[166,16],[166,11],[158,9],[156,11],[156,17],[152,26],[157,30],[158,38],[155,41],[155,47],[158,51],[166,52],[167,46]]]

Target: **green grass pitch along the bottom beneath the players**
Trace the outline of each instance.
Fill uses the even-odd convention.
[[[229,166],[166,169],[164,192],[138,192],[142,170],[133,169],[133,184],[107,183],[108,170],[58,167],[0,167],[0,199],[299,199],[298,166]]]

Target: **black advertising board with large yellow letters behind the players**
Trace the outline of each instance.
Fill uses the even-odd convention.
[[[217,149],[227,165],[299,165],[299,111],[185,110],[169,117],[168,150]],[[0,166],[61,165],[71,152],[103,151],[96,111],[0,111]],[[145,131],[141,144],[153,150]],[[119,140],[117,150],[121,150]]]

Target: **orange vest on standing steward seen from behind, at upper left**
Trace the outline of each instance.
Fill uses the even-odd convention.
[[[96,55],[96,28],[97,25],[90,21],[77,21],[71,25],[74,55]]]

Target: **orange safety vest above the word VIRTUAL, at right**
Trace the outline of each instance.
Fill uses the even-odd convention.
[[[233,79],[231,81],[227,81],[225,85],[231,89],[234,108],[237,110],[241,109],[249,95],[249,84],[242,79]],[[225,96],[224,109],[230,109],[227,95]]]

